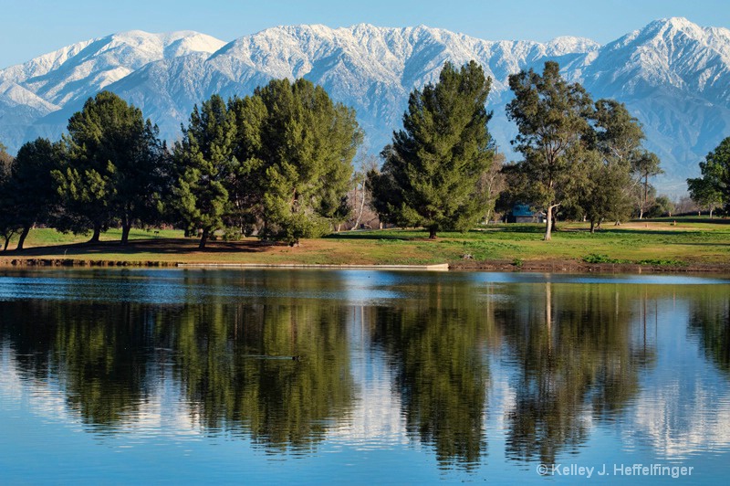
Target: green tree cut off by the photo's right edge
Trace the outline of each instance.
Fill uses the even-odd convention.
[[[730,208],[730,137],[725,138],[700,163],[702,177],[687,179],[693,199],[703,205]],[[695,199],[695,196],[697,197]]]

